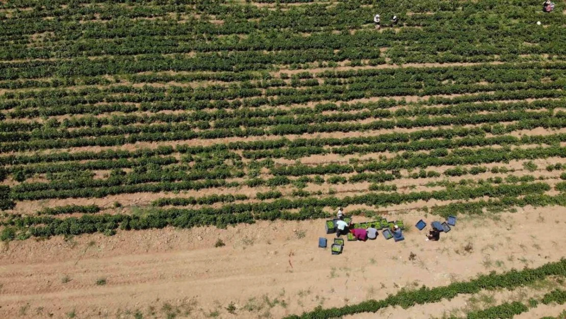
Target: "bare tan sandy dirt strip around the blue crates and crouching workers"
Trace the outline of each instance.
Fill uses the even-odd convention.
[[[559,260],[566,255],[563,210],[528,207],[460,218],[438,243],[411,227],[403,242],[381,235],[346,242],[338,256],[318,248],[318,237],[334,236],[325,235],[323,220],[13,241],[0,254],[0,318],[135,318],[136,311],[143,318],[280,318],[317,305],[381,299],[402,287],[443,286]],[[436,219],[417,211],[387,218],[408,225]],[[226,246],[215,248],[218,239]],[[106,283],[97,285],[101,279]],[[441,317],[465,307],[466,298],[355,317]],[[235,314],[226,310],[230,303]],[[537,318],[556,316],[559,308],[537,308]]]

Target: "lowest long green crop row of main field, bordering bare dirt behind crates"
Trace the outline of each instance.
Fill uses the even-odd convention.
[[[224,205],[220,208],[201,207],[200,209],[156,209],[149,210],[147,214],[124,215],[124,214],[85,214],[80,218],[52,218],[47,216],[18,216],[12,215],[3,224],[6,227],[18,227],[31,231],[33,236],[52,235],[79,235],[80,233],[91,233],[96,231],[114,231],[116,228],[123,229],[145,229],[162,228],[165,226],[194,227],[194,226],[226,226],[235,223],[252,223],[256,219],[310,219],[327,217],[323,207],[347,207],[349,205],[367,205],[385,207],[398,205],[400,203],[414,202],[419,200],[428,201],[438,199],[440,201],[456,199],[473,199],[479,197],[513,198],[525,195],[520,201],[526,203],[537,203],[541,200],[542,193],[550,187],[543,183],[521,184],[521,185],[483,185],[477,188],[462,187],[452,190],[441,190],[434,192],[414,192],[408,194],[399,193],[368,193],[354,197],[345,198],[298,198],[275,199],[272,202],[260,203],[238,203]],[[106,194],[104,194],[106,195]],[[93,197],[89,194],[88,197]],[[543,198],[542,203],[564,203],[565,195]],[[179,199],[183,201],[184,199]],[[165,199],[169,201],[169,199]],[[517,199],[519,201],[519,199]],[[170,199],[174,204],[175,199]],[[188,202],[191,202],[190,199]],[[185,204],[185,203],[181,203]],[[300,209],[299,213],[289,213],[286,210]],[[33,230],[32,230],[33,228]]]

